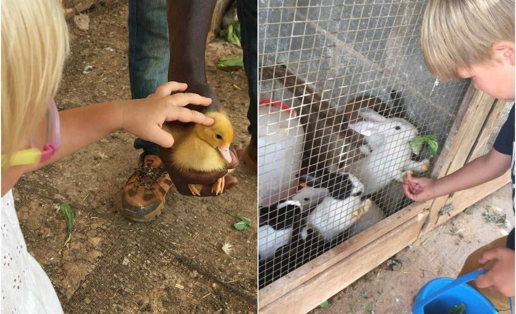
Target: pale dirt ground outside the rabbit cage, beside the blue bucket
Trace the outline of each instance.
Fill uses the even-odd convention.
[[[488,222],[488,209],[505,214],[510,226]],[[456,277],[470,253],[507,235],[513,226],[511,184],[507,184],[331,297],[327,308],[310,313],[411,313],[413,299],[427,281]],[[390,266],[392,260],[398,261],[399,267]]]

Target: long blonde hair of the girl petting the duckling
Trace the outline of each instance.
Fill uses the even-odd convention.
[[[58,0],[2,1],[2,154],[10,160],[45,117],[69,52]],[[2,164],[2,169],[8,165]]]

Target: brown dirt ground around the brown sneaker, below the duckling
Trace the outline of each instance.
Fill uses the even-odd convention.
[[[87,12],[89,29],[70,21],[71,55],[56,102],[59,109],[130,99],[127,5],[111,1]],[[208,83],[235,124],[235,143],[249,142],[249,99],[243,70],[223,72],[218,57],[239,49],[208,44]],[[83,73],[92,66],[89,73]],[[236,85],[236,87],[235,87]],[[52,280],[66,313],[256,312],[256,174],[243,166],[239,184],[222,196],[167,195],[149,223],[121,217],[121,191],[139,152],[134,136],[116,132],[53,165],[25,175],[14,188],[27,248]],[[59,205],[75,211],[71,241]],[[244,231],[233,211],[251,217]],[[234,246],[228,254],[224,243]]]

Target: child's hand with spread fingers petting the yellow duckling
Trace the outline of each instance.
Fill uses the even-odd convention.
[[[162,147],[172,147],[172,134],[162,130],[165,121],[197,122],[212,125],[214,120],[184,106],[208,106],[212,100],[195,93],[181,92],[184,83],[167,82],[146,99],[135,99],[122,104],[122,129]],[[174,95],[170,95],[172,92]]]

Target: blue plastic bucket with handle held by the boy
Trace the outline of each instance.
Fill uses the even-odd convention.
[[[466,282],[474,280],[486,270],[465,274],[457,279],[436,278],[428,281],[417,293],[413,314],[447,314],[455,306],[464,303],[466,314],[497,314],[493,305]]]

